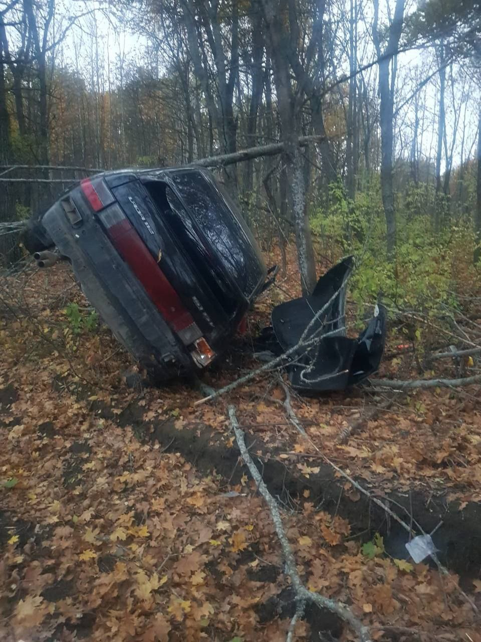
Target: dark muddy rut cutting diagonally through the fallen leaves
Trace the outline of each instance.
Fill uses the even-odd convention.
[[[246,467],[239,462],[235,440],[230,446],[229,438],[233,434],[225,435],[198,423],[177,429],[174,418],[153,421],[147,426],[142,419],[144,408],[135,403],[120,415],[112,413],[101,402],[95,404],[99,416],[115,421],[122,427],[131,426],[140,439],[158,441],[165,451],[180,453],[202,473],[215,470],[226,483],[239,483],[242,474],[248,474]],[[407,532],[366,496],[361,495],[357,499],[357,493],[353,501],[344,490],[345,480],[336,477],[330,465],[320,465],[319,473],[311,473],[307,478],[295,467],[283,464],[277,458],[278,453],[289,450],[287,444],[284,449],[269,450],[247,433],[246,445],[255,453],[264,482],[274,497],[283,501],[298,501],[303,498],[303,491],[309,490],[309,501],[313,501],[316,508],[348,519],[353,535],[359,535],[367,541],[380,532],[384,535],[385,548],[392,557],[409,557],[405,549]],[[367,490],[375,491],[375,488],[366,486],[365,480],[357,481]],[[481,573],[481,505],[469,502],[460,510],[459,502],[449,502],[447,499],[448,491],[452,490],[450,488],[446,492],[433,494],[427,488],[412,489],[410,492],[392,492],[380,497],[406,523],[410,523],[412,515],[426,533],[432,532],[442,521],[443,524],[433,535],[439,559],[466,581],[480,577]]]

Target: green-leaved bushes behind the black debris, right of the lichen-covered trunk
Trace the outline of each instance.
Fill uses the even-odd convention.
[[[421,198],[422,197],[422,198]],[[414,206],[413,204],[416,204]],[[446,221],[445,205],[443,221]],[[446,317],[475,293],[480,270],[473,266],[475,236],[471,221],[450,220],[434,231],[433,195],[412,186],[396,198],[396,255],[386,250],[384,210],[378,184],[346,198],[341,185],[330,189],[330,205],[311,214],[321,257],[337,261],[353,254],[356,266],[350,297],[359,310],[382,300],[388,308]],[[462,295],[462,296],[460,296]]]

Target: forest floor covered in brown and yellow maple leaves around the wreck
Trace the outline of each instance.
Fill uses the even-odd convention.
[[[290,265],[282,290],[258,302],[251,333],[273,302],[296,293]],[[175,434],[168,447],[151,438],[163,422],[179,435],[204,427],[233,453],[228,400],[194,406],[202,394],[181,383],[128,388],[122,373],[130,360],[96,325],[67,266],[12,275],[0,295],[0,639],[285,639],[292,594],[253,483],[246,474],[233,484],[215,469],[199,471],[195,457],[179,454]],[[398,343],[393,334],[387,353]],[[413,354],[396,359],[385,361],[383,374],[410,376]],[[206,381],[219,388],[253,367],[233,349]],[[308,587],[350,605],[373,639],[481,642],[457,576],[388,555],[379,535],[362,540],[336,511],[319,510],[308,483],[319,456],[287,420],[272,375],[229,401],[255,440],[251,453],[266,462],[271,452],[306,482],[299,496],[281,499]],[[342,429],[379,401],[382,394],[357,390],[293,396],[292,408],[311,442],[367,488],[445,491],[446,501],[459,500],[462,519],[464,505],[481,498],[477,388],[400,395],[339,443]],[[134,407],[141,431],[128,422]],[[359,499],[349,483],[343,492]],[[480,569],[471,570],[462,586],[481,608]],[[351,639],[318,612],[298,623],[296,639],[321,639],[321,629]]]

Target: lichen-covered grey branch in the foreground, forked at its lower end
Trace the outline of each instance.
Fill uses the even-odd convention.
[[[285,571],[291,578],[292,588],[294,589],[294,593],[296,594],[296,603],[298,604],[296,615],[298,615],[298,612],[300,612],[300,603],[314,602],[314,604],[317,604],[317,606],[321,609],[328,609],[329,611],[338,615],[342,620],[344,620],[344,622],[348,623],[350,627],[357,633],[361,642],[370,642],[371,638],[369,636],[369,630],[346,605],[342,604],[341,602],[336,602],[335,600],[330,600],[330,598],[325,598],[324,596],[319,595],[319,593],[308,591],[308,589],[303,586],[296,567],[296,560],[294,559],[294,554],[292,553],[291,544],[289,544],[289,540],[287,539],[287,535],[285,534],[278,505],[273,496],[270,494],[269,490],[267,490],[267,486],[264,483],[261,474],[254,464],[251,456],[249,455],[249,451],[246,447],[246,442],[244,441],[244,433],[242,432],[241,428],[239,428],[239,423],[237,422],[234,406],[229,406],[228,411],[230,424],[235,433],[235,439],[237,441],[237,446],[239,446],[239,450],[241,451],[242,459],[248,467],[249,473],[251,473],[251,476],[257,484],[260,494],[266,501],[267,507],[271,512],[274,528],[276,529],[276,533],[282,547],[282,553],[285,561]],[[294,615],[294,618],[296,618],[296,615]],[[292,620],[294,620],[294,618],[292,618]],[[292,622],[291,627],[289,627],[289,632],[291,632],[291,628],[292,630],[294,628],[292,627]]]

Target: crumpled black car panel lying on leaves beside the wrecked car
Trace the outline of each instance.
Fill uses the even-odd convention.
[[[331,268],[312,295],[287,301],[272,311],[272,329],[264,331],[266,349],[283,354],[292,349],[285,368],[294,388],[343,390],[373,374],[385,343],[384,306],[357,339],[346,336],[345,308],[353,257]]]

